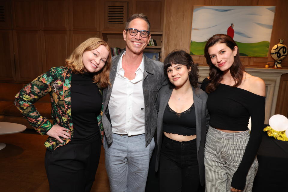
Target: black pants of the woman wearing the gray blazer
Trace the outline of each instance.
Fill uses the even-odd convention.
[[[161,192],[201,191],[196,139],[179,142],[164,136],[159,171]]]

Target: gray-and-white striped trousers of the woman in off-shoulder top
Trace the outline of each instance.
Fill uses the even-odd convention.
[[[204,156],[206,192],[230,192],[232,177],[242,160],[249,137],[249,130],[226,133],[209,126]],[[252,191],[257,170],[258,161],[255,157],[247,173],[243,192]]]

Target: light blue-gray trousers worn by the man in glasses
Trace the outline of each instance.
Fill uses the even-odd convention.
[[[145,134],[112,134],[108,145],[104,137],[105,166],[111,192],[144,192],[154,139],[145,147]]]

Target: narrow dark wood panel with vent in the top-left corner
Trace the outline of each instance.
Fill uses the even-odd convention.
[[[10,1],[0,1],[0,29],[12,29]]]

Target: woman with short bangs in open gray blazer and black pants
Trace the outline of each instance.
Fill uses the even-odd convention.
[[[164,71],[170,85],[160,89],[156,105],[160,190],[202,191],[207,94],[198,87],[198,67],[188,53],[171,52]]]

